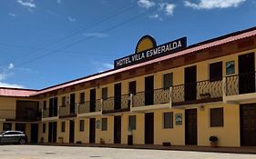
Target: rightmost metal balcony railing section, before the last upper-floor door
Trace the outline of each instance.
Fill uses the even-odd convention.
[[[226,95],[255,93],[255,73],[226,77]]]

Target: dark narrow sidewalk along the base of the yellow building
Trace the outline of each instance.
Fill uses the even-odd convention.
[[[153,145],[153,144],[39,144],[39,145],[61,145],[61,146],[84,146],[84,147],[108,147],[108,148],[128,148],[128,149],[148,149],[148,150],[175,150],[175,151],[197,151],[216,152],[231,154],[256,154],[256,147],[210,147],[199,145]]]

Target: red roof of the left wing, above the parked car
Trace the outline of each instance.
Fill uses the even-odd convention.
[[[36,92],[36,90],[30,89],[0,87],[0,96],[27,97]]]

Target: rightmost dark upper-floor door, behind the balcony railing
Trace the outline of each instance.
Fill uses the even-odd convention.
[[[254,53],[239,55],[239,94],[255,93]]]

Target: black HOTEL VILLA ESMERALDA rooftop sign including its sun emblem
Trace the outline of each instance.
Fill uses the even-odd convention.
[[[148,44],[150,44],[150,46],[148,46],[147,48]],[[144,50],[143,48],[139,49],[139,47],[140,48],[143,47]],[[146,35],[139,40],[136,48],[136,52],[138,52],[139,50],[143,50],[143,51],[115,60],[114,67],[121,68],[128,65],[137,64],[139,62],[144,62],[146,60],[157,58],[162,55],[173,54],[186,47],[187,47],[187,37],[182,37],[177,40],[171,41],[167,44],[156,46],[156,42],[154,41],[154,39],[151,36]]]

